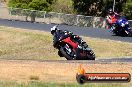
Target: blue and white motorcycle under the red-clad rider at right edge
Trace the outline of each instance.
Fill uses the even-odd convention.
[[[132,36],[132,29],[129,27],[125,17],[118,16],[117,21],[112,24],[110,31],[118,36]]]

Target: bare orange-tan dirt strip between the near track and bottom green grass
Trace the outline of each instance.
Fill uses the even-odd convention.
[[[0,60],[0,80],[30,81],[37,78],[43,82],[76,82],[79,63]],[[132,64],[83,64],[88,73],[130,73]]]

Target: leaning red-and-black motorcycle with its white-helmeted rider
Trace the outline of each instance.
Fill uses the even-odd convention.
[[[94,52],[78,35],[59,30],[58,26],[51,28],[53,46],[58,49],[58,55],[67,60],[95,60]]]

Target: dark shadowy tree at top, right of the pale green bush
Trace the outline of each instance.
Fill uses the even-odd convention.
[[[103,9],[103,0],[72,0],[78,14],[100,15]]]

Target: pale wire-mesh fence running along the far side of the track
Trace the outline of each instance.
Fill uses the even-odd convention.
[[[8,20],[40,22],[47,24],[66,24],[93,28],[106,28],[107,26],[105,18],[102,17],[7,7],[0,7],[0,13],[0,18]],[[130,20],[129,23],[132,26],[132,20]]]

